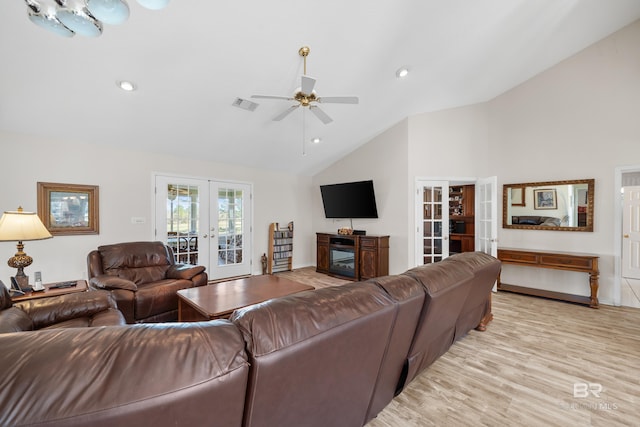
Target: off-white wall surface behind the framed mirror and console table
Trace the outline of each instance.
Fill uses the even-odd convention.
[[[499,184],[595,178],[593,233],[500,229],[500,246],[598,254],[605,303],[614,300],[615,168],[640,163],[639,43],[636,22],[488,103]],[[588,294],[586,275],[540,274],[539,287]]]

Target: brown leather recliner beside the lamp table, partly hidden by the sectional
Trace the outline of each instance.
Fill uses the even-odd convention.
[[[1,282],[0,282],[1,283]],[[124,325],[109,292],[79,292],[13,304],[0,284],[0,333],[40,329]]]

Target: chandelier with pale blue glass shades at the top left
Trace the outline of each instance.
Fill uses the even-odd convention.
[[[136,0],[151,10],[163,9],[169,0]],[[25,0],[29,20],[63,37],[76,33],[87,37],[102,34],[102,24],[119,25],[129,18],[125,0]]]

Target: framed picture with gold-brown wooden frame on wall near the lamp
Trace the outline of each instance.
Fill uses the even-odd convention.
[[[38,216],[54,236],[98,234],[98,186],[38,182]]]

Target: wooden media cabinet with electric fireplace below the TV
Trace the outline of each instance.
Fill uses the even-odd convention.
[[[389,236],[316,234],[316,271],[350,280],[389,274]]]

